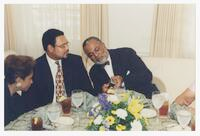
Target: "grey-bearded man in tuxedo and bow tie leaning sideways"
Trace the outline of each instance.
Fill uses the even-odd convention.
[[[96,95],[106,92],[112,81],[115,87],[143,93],[151,98],[153,91],[158,90],[152,84],[152,73],[141,58],[131,48],[108,50],[97,37],[89,37],[83,42],[85,54],[95,63],[89,75],[93,82]]]

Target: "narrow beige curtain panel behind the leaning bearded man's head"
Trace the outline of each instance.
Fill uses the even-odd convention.
[[[80,7],[81,40],[89,36],[97,36],[108,46],[108,5],[82,4]],[[93,62],[83,53],[83,62],[89,71]]]

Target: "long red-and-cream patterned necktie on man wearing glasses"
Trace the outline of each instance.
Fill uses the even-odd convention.
[[[56,101],[58,102],[60,97],[64,96],[64,78],[62,68],[59,64],[59,61],[55,62],[58,66],[58,71],[56,73]]]

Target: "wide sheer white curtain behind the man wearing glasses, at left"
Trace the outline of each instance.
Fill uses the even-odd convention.
[[[80,43],[79,4],[17,4],[5,7],[5,50],[37,58],[44,52],[42,35],[50,28],[60,29],[69,41]],[[81,50],[77,52],[80,54]]]

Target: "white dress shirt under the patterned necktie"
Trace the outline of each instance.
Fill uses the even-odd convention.
[[[46,53],[46,57],[47,57],[47,62],[49,64],[50,70],[51,70],[51,75],[53,77],[53,84],[54,84],[54,95],[53,95],[53,103],[56,103],[56,73],[58,71],[58,65],[55,63],[56,60],[50,58],[47,53]],[[60,66],[62,67],[62,63],[61,60],[58,60]],[[64,92],[64,95],[66,95],[66,92]]]

